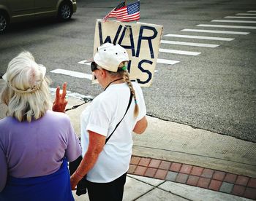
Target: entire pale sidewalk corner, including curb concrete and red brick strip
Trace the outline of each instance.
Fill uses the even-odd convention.
[[[0,79],[0,89],[3,84]],[[69,93],[67,99],[79,135],[80,113],[89,103]],[[0,110],[3,118],[6,107]],[[256,200],[256,143],[148,117],[132,153],[124,200]]]

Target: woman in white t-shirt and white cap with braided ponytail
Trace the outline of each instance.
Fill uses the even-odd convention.
[[[106,43],[98,47],[91,63],[91,71],[104,92],[81,114],[83,160],[71,176],[71,186],[75,189],[86,175],[90,200],[102,200],[102,197],[104,200],[122,200],[132,156],[132,131],[141,134],[148,124],[143,92],[129,79],[128,60],[123,47]],[[127,111],[131,95],[132,102]]]

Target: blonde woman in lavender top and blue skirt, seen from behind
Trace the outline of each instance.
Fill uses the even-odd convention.
[[[49,110],[45,71],[21,52],[3,76],[8,111],[0,120],[0,200],[74,200],[67,161],[81,148],[69,117]]]

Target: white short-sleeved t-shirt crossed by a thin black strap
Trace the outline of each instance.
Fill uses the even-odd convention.
[[[94,98],[90,106],[86,107],[86,110],[81,114],[83,156],[89,145],[88,130],[108,138],[118,122],[124,117],[108,143],[105,144],[94,167],[87,174],[87,180],[91,182],[108,183],[122,176],[129,169],[133,144],[132,130],[136,122],[146,116],[142,90],[137,83],[132,82],[132,85],[139,106],[138,117],[134,117],[134,98],[132,98],[131,106],[124,117],[130,97],[127,83],[111,84],[107,90]]]

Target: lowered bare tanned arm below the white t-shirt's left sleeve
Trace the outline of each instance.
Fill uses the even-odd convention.
[[[75,186],[78,182],[85,176],[92,167],[94,167],[95,162],[99,157],[100,152],[105,146],[106,137],[100,135],[99,133],[94,133],[89,130],[89,146],[86,151],[83,160],[80,162],[78,169],[72,174],[70,178],[71,189],[75,190]]]

